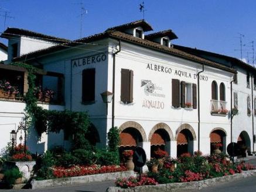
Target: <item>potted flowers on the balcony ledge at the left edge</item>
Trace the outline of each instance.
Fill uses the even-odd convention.
[[[15,98],[15,94],[19,91],[15,86],[12,86],[9,81],[0,80],[0,97],[2,98]]]

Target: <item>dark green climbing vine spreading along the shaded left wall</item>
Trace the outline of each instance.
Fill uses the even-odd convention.
[[[43,132],[60,132],[63,130],[66,135],[73,136],[73,148],[86,149],[88,148],[88,140],[85,135],[88,132],[90,121],[87,113],[77,111],[56,111],[46,110],[37,106],[35,96],[35,79],[37,68],[23,62],[13,62],[12,65],[23,67],[28,71],[29,89],[25,95],[25,112],[26,123],[29,128],[34,125],[39,139]]]

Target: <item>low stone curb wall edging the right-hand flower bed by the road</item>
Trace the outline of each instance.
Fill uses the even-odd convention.
[[[228,181],[234,181],[237,179],[253,176],[256,170],[248,170],[243,173],[237,173],[233,175],[216,177],[213,179],[206,179],[202,181],[193,181],[188,183],[168,183],[158,184],[156,186],[138,186],[134,188],[121,188],[121,187],[108,187],[106,192],[169,192],[169,191],[189,191],[189,190],[200,190],[204,187],[213,186],[216,183],[224,183]]]

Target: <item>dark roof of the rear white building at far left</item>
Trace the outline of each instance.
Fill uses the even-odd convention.
[[[4,33],[1,34],[0,37],[9,39],[10,37],[13,37],[16,35],[28,36],[28,37],[38,37],[38,38],[46,39],[48,41],[53,41],[56,43],[63,43],[66,41],[70,41],[67,39],[59,38],[59,37],[53,37],[53,36],[48,36],[48,35],[42,34],[42,33],[32,32],[32,31],[26,30],[26,29],[9,28],[9,27],[4,31]]]

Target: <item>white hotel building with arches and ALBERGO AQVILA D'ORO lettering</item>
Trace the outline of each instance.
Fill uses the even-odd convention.
[[[41,83],[58,92],[55,99],[59,104],[39,104],[50,110],[87,111],[97,135],[94,143],[99,147],[107,144],[108,130],[117,126],[120,149],[142,146],[147,158],[156,148],[165,149],[172,157],[198,149],[209,154],[216,142],[221,142],[221,150],[226,152],[231,139],[254,152],[255,68],[234,58],[232,64],[224,55],[205,56],[173,46],[170,41],[178,37],[172,30],[145,34],[151,30],[148,23],[139,20],[67,43],[11,28],[2,37],[9,40],[9,62],[26,62],[42,68],[41,75],[50,75],[42,76]],[[10,48],[12,42],[17,44],[16,53]],[[234,68],[238,82],[233,83],[231,94],[237,73]],[[21,73],[26,79],[26,72]],[[246,88],[247,73],[250,88]],[[27,88],[23,90],[25,93]],[[112,95],[111,103],[103,102],[104,92]],[[235,103],[231,104],[234,93]],[[8,113],[22,112],[25,103],[1,99],[0,106],[6,112],[0,116],[1,124],[10,124],[0,125],[5,132],[2,141],[7,142],[13,124],[21,121]],[[230,110],[234,107],[239,112],[231,125]],[[42,153],[54,145],[69,148],[63,132],[43,134],[40,141],[35,135],[31,131],[28,138],[32,152]]]

